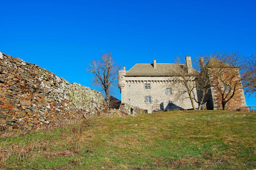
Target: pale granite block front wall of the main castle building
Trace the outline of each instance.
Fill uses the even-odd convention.
[[[172,83],[169,77],[125,77],[124,87],[121,89],[122,103],[128,103],[148,110],[155,109],[191,109],[192,104],[188,94],[177,97],[180,83]],[[150,89],[145,89],[145,83]],[[191,82],[193,83],[193,82]],[[172,94],[166,94],[166,88],[172,89]],[[196,89],[195,89],[196,94]],[[146,96],[151,97],[151,103],[146,103]],[[196,105],[196,102],[194,102]],[[197,105],[196,105],[197,106]]]

